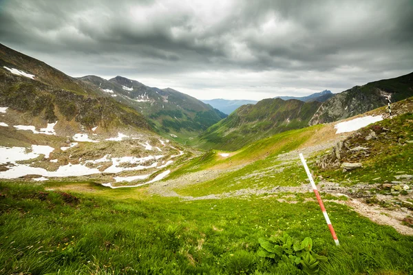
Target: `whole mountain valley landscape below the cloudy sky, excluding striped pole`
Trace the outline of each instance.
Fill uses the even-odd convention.
[[[412,76],[226,117],[1,45],[0,274],[410,274]]]

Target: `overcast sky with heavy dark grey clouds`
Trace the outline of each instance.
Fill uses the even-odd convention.
[[[0,0],[0,43],[70,76],[261,100],[413,72],[412,14],[413,0]]]

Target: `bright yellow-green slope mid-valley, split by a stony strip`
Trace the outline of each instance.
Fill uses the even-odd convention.
[[[176,190],[181,195],[201,196],[209,194],[218,194],[221,192],[229,192],[241,188],[248,187],[273,187],[279,185],[297,185],[304,180],[304,175],[293,175],[291,172],[297,169],[296,164],[292,164],[284,170],[283,177],[263,178],[249,177],[248,179],[240,180],[243,175],[251,172],[267,173],[271,171],[271,167],[277,166],[277,155],[286,153],[298,148],[304,144],[310,137],[315,135],[317,131],[321,131],[324,125],[311,126],[306,129],[292,130],[284,133],[267,137],[263,140],[245,146],[234,155],[222,158],[218,151],[209,151],[200,157],[196,157],[191,162],[182,166],[179,170],[171,173],[171,178],[179,177],[184,173],[191,173],[198,170],[215,169],[215,168],[231,168],[235,166],[245,165],[243,168],[232,173],[225,173],[217,179],[204,181],[200,184],[195,184]]]

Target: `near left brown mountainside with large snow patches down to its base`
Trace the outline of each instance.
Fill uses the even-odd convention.
[[[1,181],[149,184],[191,155],[112,94],[1,45]]]

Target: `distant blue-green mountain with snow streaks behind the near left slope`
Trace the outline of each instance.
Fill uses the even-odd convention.
[[[171,88],[148,87],[123,76],[105,80],[98,76],[78,78],[107,97],[112,97],[142,115],[158,133],[167,133],[181,140],[199,135],[226,115],[209,104]]]

